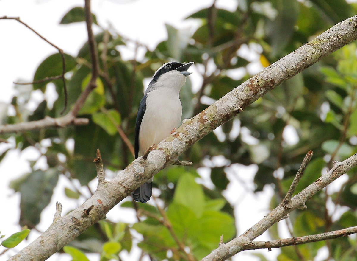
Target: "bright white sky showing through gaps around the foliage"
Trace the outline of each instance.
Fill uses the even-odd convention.
[[[176,28],[191,28],[194,30],[198,26],[197,21],[184,21],[183,19],[211,4],[212,0],[92,0],[92,12],[97,15],[97,20],[102,26],[107,27],[108,22],[110,22],[120,34],[140,41],[153,49],[157,43],[167,38],[165,23]],[[86,41],[85,24],[59,25],[59,21],[71,8],[83,5],[84,1],[79,0],[1,0],[0,16],[19,16],[22,21],[59,46],[65,53],[76,55]],[[228,10],[234,10],[236,5],[236,0],[217,1],[218,7]],[[94,29],[98,31],[96,26],[94,26]],[[15,92],[12,82],[19,79],[31,81],[37,66],[47,56],[56,53],[56,49],[14,20],[0,20],[0,37],[0,103],[9,103]],[[132,58],[130,51],[126,51],[122,55],[127,59]],[[200,84],[199,78],[193,77],[192,80],[193,86]],[[13,140],[9,144],[0,144],[0,153],[8,147],[13,147],[13,144]],[[27,148],[22,153],[19,151],[8,153],[0,163],[1,235],[10,236],[12,233],[20,231],[20,227],[17,225],[20,215],[20,195],[14,194],[9,189],[9,182],[28,172],[30,168],[27,161],[36,159],[38,156],[35,149]],[[40,161],[38,164],[39,168],[45,166],[45,161]],[[228,178],[231,183],[225,196],[235,206],[237,230],[242,233],[267,213],[267,206],[269,206],[274,191],[270,187],[265,187],[263,192],[253,193],[254,170],[252,167],[234,167],[229,173]],[[240,179],[239,182],[237,177]],[[71,187],[71,184],[64,177],[61,177],[50,205],[42,213],[41,223],[38,225],[39,230],[44,231],[51,224],[56,201],[62,203],[62,213],[76,207],[75,202],[73,200],[68,201],[64,195],[65,186]],[[79,185],[77,184],[77,186]],[[95,181],[91,183],[91,187],[95,189]],[[84,193],[86,193],[85,189]],[[81,200],[84,200],[84,198],[81,198]],[[124,211],[119,207],[111,210],[107,217],[112,221],[132,222],[134,220],[134,214],[131,211]],[[39,233],[36,231],[31,231],[29,241],[21,243],[15,250],[7,251],[5,255],[0,256],[0,260],[5,260],[13,255],[38,235]],[[266,239],[268,237],[264,235],[258,238],[258,240]],[[4,248],[0,246],[0,252],[3,250]],[[280,250],[270,252],[256,250],[254,252],[264,253],[269,260],[275,260]],[[130,255],[123,254],[121,258],[123,261],[137,260],[138,253],[137,250],[132,251]],[[90,255],[89,258],[91,261],[99,260],[96,255]],[[238,259],[258,260],[255,257],[248,256],[247,252],[236,255],[234,260]],[[54,255],[48,260],[66,261],[70,258],[64,255],[60,257]]]

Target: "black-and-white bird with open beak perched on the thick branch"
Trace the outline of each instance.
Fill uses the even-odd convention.
[[[160,143],[172,133],[181,121],[180,90],[193,64],[170,61],[163,64],[152,76],[136,115],[135,158],[142,156],[153,144]],[[152,196],[150,178],[134,192],[135,201],[146,203]]]

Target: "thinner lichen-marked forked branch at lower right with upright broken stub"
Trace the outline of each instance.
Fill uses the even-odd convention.
[[[316,235],[309,235],[303,237],[290,237],[285,239],[271,240],[271,241],[253,241],[254,238],[261,235],[273,224],[289,217],[289,213],[295,209],[305,210],[305,202],[309,200],[315,193],[320,191],[322,188],[326,187],[333,180],[340,177],[342,174],[346,173],[348,169],[351,169],[353,166],[356,166],[357,153],[351,156],[349,159],[353,158],[352,162],[348,162],[349,159],[346,159],[344,162],[337,162],[334,167],[323,175],[321,178],[317,179],[313,184],[305,188],[303,191],[298,193],[295,197],[292,197],[295,189],[303,175],[303,172],[306,169],[307,164],[312,158],[312,151],[308,151],[305,158],[303,159],[300,168],[298,169],[296,176],[286,193],[285,198],[282,200],[281,204],[268,213],[261,221],[256,223],[253,227],[249,228],[241,236],[233,239],[227,244],[219,244],[219,247],[211,252],[208,256],[204,257],[201,261],[223,261],[227,258],[235,255],[238,252],[244,250],[252,249],[261,249],[268,248],[268,251],[271,248],[279,248],[284,246],[293,246],[300,245],[309,242],[324,241],[333,238],[338,238],[342,236],[351,235],[357,233],[356,227],[348,227],[342,230],[336,230],[331,232],[325,232]],[[348,165],[348,167],[344,165]],[[342,167],[344,166],[344,167]]]

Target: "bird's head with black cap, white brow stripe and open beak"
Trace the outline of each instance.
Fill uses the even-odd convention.
[[[191,74],[187,69],[192,64],[192,61],[185,64],[176,61],[165,63],[154,73],[150,85],[154,87],[153,89],[165,87],[180,91],[185,84],[186,76]]]

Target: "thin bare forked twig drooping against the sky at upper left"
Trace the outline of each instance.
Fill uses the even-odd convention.
[[[55,79],[62,79],[62,83],[63,83],[63,89],[64,89],[64,94],[65,94],[65,107],[64,109],[62,110],[61,114],[65,111],[66,107],[67,107],[67,87],[66,87],[66,79],[65,79],[65,73],[66,73],[66,61],[65,61],[65,55],[64,55],[64,52],[61,48],[59,48],[58,46],[52,44],[49,40],[47,40],[46,38],[44,38],[44,36],[40,35],[39,33],[37,33],[34,29],[32,29],[29,25],[27,25],[26,23],[24,23],[23,21],[20,20],[19,17],[7,17],[6,15],[5,16],[2,16],[0,17],[0,19],[9,19],[9,20],[16,20],[18,21],[19,23],[25,25],[27,28],[29,28],[32,32],[34,32],[35,34],[37,34],[38,36],[40,36],[40,38],[44,41],[46,41],[46,43],[52,45],[54,48],[56,48],[58,50],[58,52],[60,53],[61,55],[61,59],[62,59],[62,74],[61,75],[58,75],[58,76],[54,76],[54,77],[46,77],[42,80],[38,80],[38,81],[35,81],[35,82],[31,82],[31,83],[15,83],[15,84],[35,84],[35,83],[42,83],[42,82],[46,82],[46,81],[49,81],[49,80],[55,80]]]

